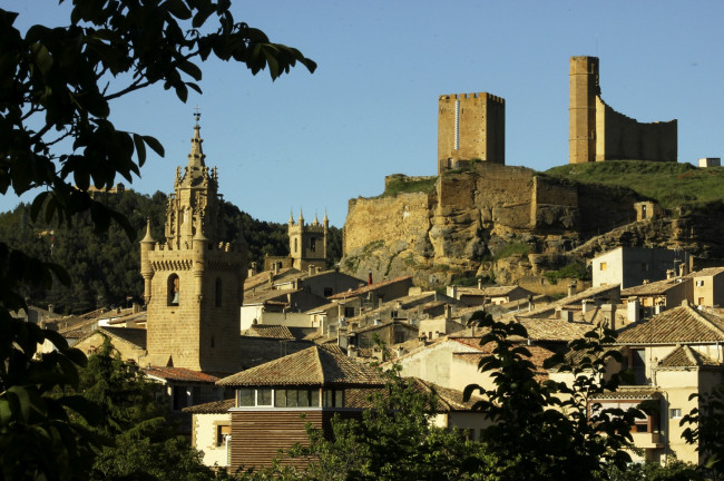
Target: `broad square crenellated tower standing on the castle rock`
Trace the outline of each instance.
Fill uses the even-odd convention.
[[[438,99],[438,175],[479,159],[506,163],[506,100],[490,94]]]

